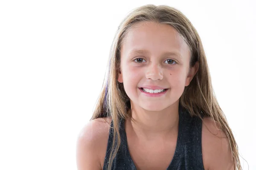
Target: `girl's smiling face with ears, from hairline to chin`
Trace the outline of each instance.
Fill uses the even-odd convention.
[[[118,81],[132,107],[161,111],[178,102],[195,75],[198,65],[189,68],[189,60],[189,48],[172,26],[136,23],[121,46]]]

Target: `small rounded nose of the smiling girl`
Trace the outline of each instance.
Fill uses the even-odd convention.
[[[158,64],[152,64],[146,70],[146,78],[152,80],[163,79],[163,68]]]

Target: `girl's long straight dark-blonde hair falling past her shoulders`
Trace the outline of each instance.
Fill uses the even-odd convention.
[[[151,4],[133,9],[119,25],[111,46],[108,74],[104,79],[102,91],[91,118],[93,120],[100,117],[112,117],[113,120],[114,142],[108,170],[111,169],[113,159],[121,143],[119,119],[127,119],[129,117],[127,111],[131,107],[130,99],[125,93],[123,84],[117,81],[120,69],[120,48],[129,29],[132,28],[134,23],[142,21],[152,21],[172,26],[189,46],[191,52],[190,67],[194,66],[198,61],[199,68],[189,86],[185,87],[180,97],[180,105],[186,108],[191,116],[198,116],[202,119],[201,115],[203,115],[215,120],[215,125],[217,123],[220,130],[227,136],[233,155],[234,167],[241,170],[238,146],[227,119],[214,96],[207,59],[198,32],[192,23],[176,8]]]

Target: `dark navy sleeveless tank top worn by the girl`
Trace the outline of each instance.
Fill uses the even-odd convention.
[[[111,127],[113,127],[113,121],[111,122]],[[204,170],[201,119],[199,117],[191,117],[188,111],[179,107],[178,129],[175,153],[166,170]],[[124,119],[120,119],[119,132],[121,145],[113,160],[111,170],[136,170],[128,150]],[[110,128],[103,170],[107,170],[112,143],[113,128]]]

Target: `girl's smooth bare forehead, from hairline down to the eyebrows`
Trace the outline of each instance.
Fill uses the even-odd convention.
[[[122,55],[133,53],[176,53],[189,55],[189,48],[180,34],[167,24],[140,22],[132,26],[122,43]]]

